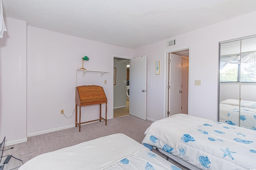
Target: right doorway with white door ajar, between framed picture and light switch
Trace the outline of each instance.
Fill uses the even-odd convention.
[[[166,114],[189,113],[189,49],[166,51]]]

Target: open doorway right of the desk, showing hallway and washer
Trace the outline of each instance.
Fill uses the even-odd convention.
[[[116,79],[114,84],[114,114],[113,117],[121,117],[130,114],[129,98],[129,73],[130,59],[114,57]]]

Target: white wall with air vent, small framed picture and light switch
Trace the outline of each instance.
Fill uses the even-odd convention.
[[[140,47],[134,56],[147,55],[147,70],[152,81],[147,87],[148,119],[162,119],[164,111],[164,51],[190,47],[190,115],[218,118],[218,43],[256,34],[256,12],[223,21],[202,29],[178,35],[165,41]],[[166,41],[176,39],[176,45],[166,48]],[[160,61],[160,75],[154,74],[155,61]],[[201,86],[194,86],[201,80]]]

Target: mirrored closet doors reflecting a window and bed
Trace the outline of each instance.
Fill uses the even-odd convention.
[[[256,36],[220,43],[219,121],[256,130]]]

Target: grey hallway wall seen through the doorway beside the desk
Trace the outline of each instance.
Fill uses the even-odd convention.
[[[114,67],[116,67],[116,85],[114,85],[114,108],[125,107],[127,79],[126,63],[114,60]]]

